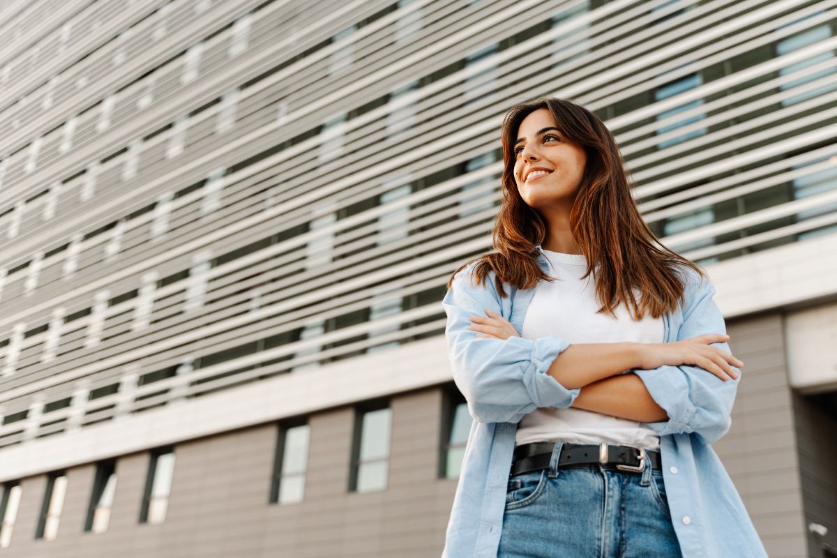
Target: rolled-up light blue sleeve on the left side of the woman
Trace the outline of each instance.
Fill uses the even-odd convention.
[[[454,382],[479,422],[519,422],[538,407],[570,407],[580,388],[563,387],[547,370],[570,346],[554,335],[537,339],[478,338],[472,315],[501,314],[501,299],[491,277],[475,285],[473,265],[454,276],[442,305],[448,316],[444,335]],[[519,334],[520,332],[518,332]]]

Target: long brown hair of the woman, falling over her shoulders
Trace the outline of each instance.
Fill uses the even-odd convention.
[[[679,254],[666,248],[639,214],[630,192],[631,180],[613,134],[590,110],[569,100],[541,97],[520,103],[506,113],[501,127],[503,145],[503,200],[492,238],[496,252],[462,264],[448,279],[469,264],[484,284],[495,274],[497,291],[508,296],[504,282],[517,289],[531,289],[541,279],[552,281],[537,264],[537,246],[547,238],[547,223],[520,195],[514,177],[514,142],[521,121],[534,110],[547,109],[559,131],[587,154],[581,184],[570,210],[573,238],[587,259],[587,272],[593,274],[596,294],[602,304],[598,312],[614,314],[617,306],[629,308],[634,320],[646,311],[654,318],[675,310],[682,303],[686,268],[706,278],[706,273]],[[706,278],[708,279],[708,278]],[[634,298],[638,289],[640,301]]]

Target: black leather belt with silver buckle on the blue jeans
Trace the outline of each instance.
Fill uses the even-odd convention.
[[[554,442],[524,443],[517,446],[509,476],[549,468],[554,447]],[[645,449],[633,443],[564,443],[561,455],[558,457],[558,466],[577,463],[601,463],[602,465],[613,463],[619,470],[641,473],[646,463],[650,463],[651,468],[660,469],[660,452]]]

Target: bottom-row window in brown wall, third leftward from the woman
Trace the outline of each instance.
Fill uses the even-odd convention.
[[[280,425],[270,488],[271,503],[295,504],[302,501],[306,488],[309,438],[311,427],[308,424],[294,422]]]

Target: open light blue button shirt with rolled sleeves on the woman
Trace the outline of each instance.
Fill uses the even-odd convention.
[[[546,255],[538,264],[548,273]],[[581,388],[567,389],[547,374],[570,343],[554,335],[537,339],[476,338],[470,316],[502,315],[521,334],[535,289],[503,283],[501,298],[490,273],[471,284],[472,263],[454,277],[442,305],[454,381],[474,422],[445,537],[443,558],[496,558],[517,422],[538,407],[570,407]],[[687,270],[684,303],[663,315],[665,342],[727,333],[712,295],[715,287]],[[561,309],[556,309],[560,313]],[[731,352],[727,343],[713,343]],[[684,558],[767,558],[741,497],[709,444],[727,433],[738,379],[722,381],[699,366],[632,370],[669,420],[642,422],[660,434],[663,479]],[[560,521],[560,518],[556,518]]]

